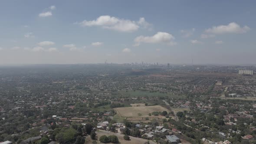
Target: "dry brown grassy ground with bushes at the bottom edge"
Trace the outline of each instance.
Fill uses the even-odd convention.
[[[103,131],[103,130],[100,130],[100,131],[97,131],[96,132],[97,134],[97,137],[98,139],[96,140],[97,141],[97,144],[103,144],[99,141],[99,137],[101,137],[102,135],[106,135],[106,136],[109,136],[109,135],[116,135],[118,137],[118,140],[120,142],[120,144],[144,144],[145,142],[147,142],[148,140],[146,139],[143,139],[143,138],[138,138],[138,137],[132,137],[132,136],[129,136],[131,141],[125,141],[124,139],[124,135],[123,134],[120,134],[120,133],[113,133],[113,132],[109,132],[109,131]],[[85,144],[92,144],[92,139],[91,137],[87,137],[85,139]],[[112,144],[112,143],[109,143],[109,144]],[[150,144],[156,144],[155,142],[153,141],[150,141]]]

